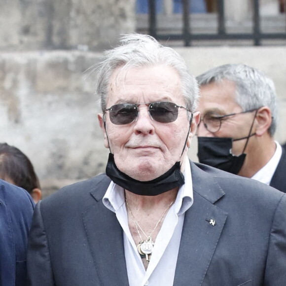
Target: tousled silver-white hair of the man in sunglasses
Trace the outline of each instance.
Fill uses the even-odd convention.
[[[97,94],[102,111],[105,112],[110,76],[117,68],[166,65],[178,72],[182,96],[186,108],[194,112],[197,108],[199,88],[195,77],[189,73],[183,58],[172,48],[161,45],[151,36],[141,34],[123,35],[119,47],[104,52],[98,71]]]

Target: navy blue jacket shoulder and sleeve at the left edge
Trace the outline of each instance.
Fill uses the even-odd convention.
[[[26,251],[34,201],[0,180],[0,286],[26,286]]]

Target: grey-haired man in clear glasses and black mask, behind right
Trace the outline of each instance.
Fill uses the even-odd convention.
[[[241,64],[216,67],[197,80],[201,85],[199,161],[286,192],[286,152],[274,140],[273,81]]]

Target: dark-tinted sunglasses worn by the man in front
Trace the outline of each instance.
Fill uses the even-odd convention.
[[[109,111],[109,118],[113,124],[124,125],[130,124],[138,117],[138,106],[148,106],[148,113],[152,119],[160,123],[174,122],[178,118],[179,108],[186,107],[178,106],[172,102],[149,102],[149,103],[137,103],[137,104],[116,104],[112,107],[106,108],[105,111]]]

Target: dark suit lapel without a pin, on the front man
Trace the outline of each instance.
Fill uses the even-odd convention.
[[[87,241],[102,286],[128,285],[122,228],[116,215],[102,203],[109,179],[91,191],[95,204],[82,214]]]

